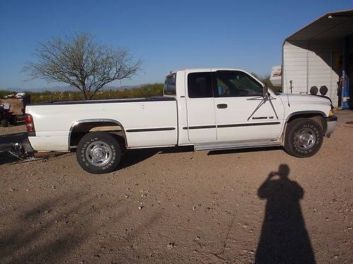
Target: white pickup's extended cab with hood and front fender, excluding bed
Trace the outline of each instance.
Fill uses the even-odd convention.
[[[325,118],[331,111],[321,96],[295,96],[288,103],[292,95],[263,92],[261,81],[244,70],[174,71],[166,77],[164,96],[177,100],[178,144],[192,143],[196,150],[273,146],[282,144],[289,115],[306,111]]]

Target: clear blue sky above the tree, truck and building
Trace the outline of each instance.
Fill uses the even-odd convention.
[[[1,0],[0,89],[61,85],[25,82],[21,69],[37,42],[73,32],[90,32],[144,61],[143,71],[124,85],[163,82],[179,68],[266,75],[281,63],[286,37],[324,13],[349,8],[353,1]]]

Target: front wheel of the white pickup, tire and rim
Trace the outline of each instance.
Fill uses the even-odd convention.
[[[287,125],[285,151],[298,158],[315,155],[323,144],[323,130],[317,122],[298,118]]]

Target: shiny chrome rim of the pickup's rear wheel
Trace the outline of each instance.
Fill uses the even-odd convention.
[[[112,159],[112,149],[105,142],[92,142],[85,151],[87,161],[94,166],[104,166]]]

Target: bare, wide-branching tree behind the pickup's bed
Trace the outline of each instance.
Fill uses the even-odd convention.
[[[141,65],[140,60],[133,61],[126,49],[100,44],[87,33],[40,42],[35,58],[36,62],[28,62],[23,68],[30,79],[70,84],[85,99],[92,99],[109,82],[131,78]]]

